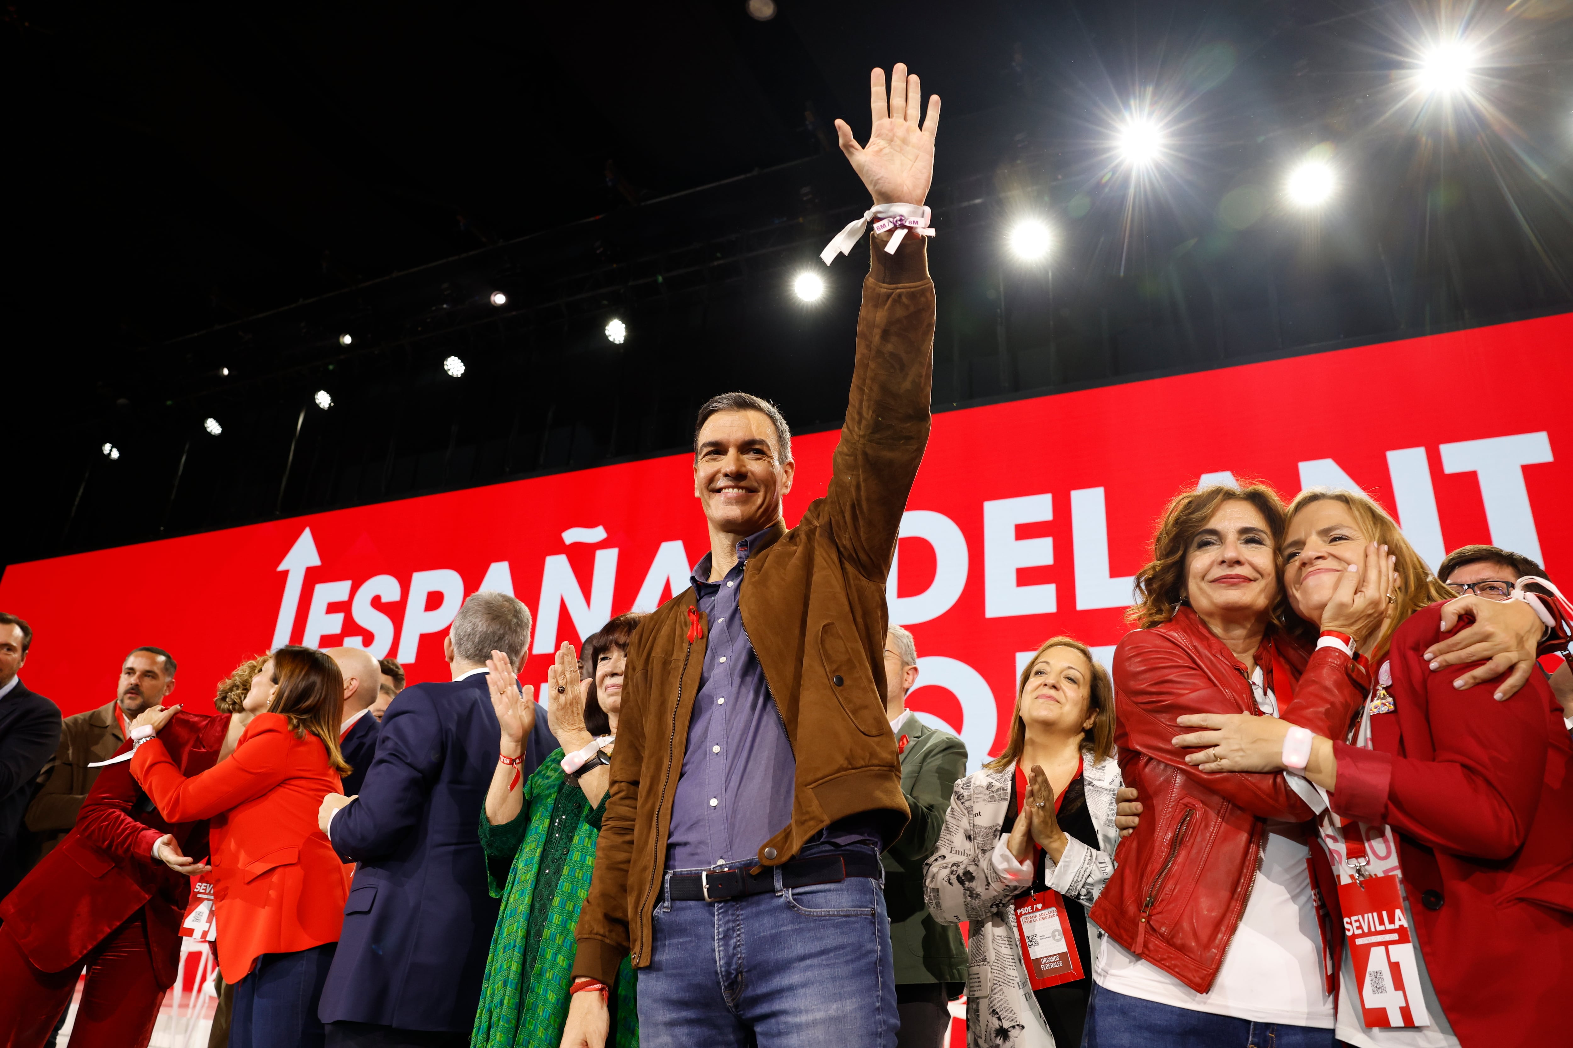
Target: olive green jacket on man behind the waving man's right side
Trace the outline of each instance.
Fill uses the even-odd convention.
[[[912,811],[906,831],[884,853],[886,911],[890,914],[890,951],[895,982],[967,980],[967,947],[955,924],[939,924],[923,903],[923,863],[934,853],[945,828],[950,790],[967,773],[967,748],[952,735],[925,726],[915,715],[901,721],[901,793]]]

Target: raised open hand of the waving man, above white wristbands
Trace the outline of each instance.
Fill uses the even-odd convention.
[[[886,101],[884,69],[868,77],[873,129],[868,145],[859,146],[845,119],[835,121],[842,152],[853,162],[876,204],[922,204],[934,179],[934,132],[939,129],[939,96],[928,97],[928,119],[919,127],[923,85],[897,63],[890,71],[890,99]]]

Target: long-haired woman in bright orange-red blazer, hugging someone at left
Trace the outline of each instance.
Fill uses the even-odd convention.
[[[131,773],[165,819],[209,819],[219,969],[234,985],[231,1048],[322,1045],[316,1007],[344,921],[344,867],[316,826],[349,771],[338,753],[343,679],[310,647],[280,647],[267,712],[234,756],[186,778],[157,738]],[[162,727],[170,710],[137,724]]]

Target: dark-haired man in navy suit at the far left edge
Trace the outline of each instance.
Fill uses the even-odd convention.
[[[0,897],[27,874],[25,856],[33,850],[24,839],[22,817],[38,789],[38,773],[60,746],[60,707],[28,691],[17,676],[31,646],[33,628],[0,611]]]

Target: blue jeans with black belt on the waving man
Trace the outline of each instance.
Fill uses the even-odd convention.
[[[895,1045],[890,919],[870,877],[725,902],[662,891],[653,927],[640,1048]]]

